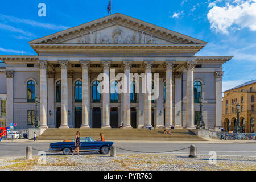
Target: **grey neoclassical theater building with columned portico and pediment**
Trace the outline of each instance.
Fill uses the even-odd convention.
[[[222,125],[222,64],[232,56],[195,56],[207,42],[117,13],[28,43],[37,56],[0,56],[6,126],[32,127],[36,96],[41,127],[193,128],[200,97],[205,126]],[[100,93],[97,76],[111,69],[158,73],[159,96],[117,93],[110,77],[115,91]]]

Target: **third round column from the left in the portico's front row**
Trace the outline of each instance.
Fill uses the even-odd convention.
[[[89,66],[90,61],[80,61],[82,65],[82,124],[81,127],[89,126]]]

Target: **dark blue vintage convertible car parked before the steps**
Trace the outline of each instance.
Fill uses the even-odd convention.
[[[98,151],[100,154],[109,154],[110,146],[114,144],[114,142],[94,141],[91,137],[80,137],[80,142],[79,151]],[[70,155],[73,150],[75,150],[75,138],[72,142],[51,143],[49,146],[49,151],[62,151],[64,155]]]

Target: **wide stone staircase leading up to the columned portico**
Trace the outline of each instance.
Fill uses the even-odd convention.
[[[94,140],[103,133],[105,140],[176,140],[176,141],[206,141],[188,129],[171,130],[172,135],[164,134],[164,129],[46,129],[38,140],[72,140],[79,131],[81,137],[90,136]]]

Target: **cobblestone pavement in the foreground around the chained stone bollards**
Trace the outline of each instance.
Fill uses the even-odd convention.
[[[24,158],[1,158],[0,170],[36,171],[104,171],[104,170],[256,170],[256,158],[249,156],[217,156],[217,163],[209,164],[208,155],[188,158],[187,155],[82,155],[46,156],[46,163],[39,165],[38,156],[33,160]]]

